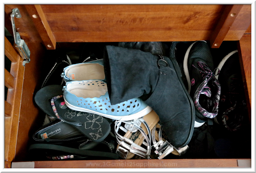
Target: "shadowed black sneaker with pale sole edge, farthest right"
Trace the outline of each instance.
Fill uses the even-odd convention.
[[[214,121],[224,125],[230,131],[240,129],[243,117],[247,114],[237,52],[237,50],[234,50],[222,59],[217,68],[219,75],[216,76],[222,87],[220,109],[218,116],[214,117]]]

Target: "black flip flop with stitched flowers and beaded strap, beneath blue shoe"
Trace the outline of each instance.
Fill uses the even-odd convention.
[[[69,123],[92,141],[100,142],[108,136],[110,123],[105,118],[68,108],[62,94],[62,86],[46,86],[36,93],[35,102],[46,114]]]

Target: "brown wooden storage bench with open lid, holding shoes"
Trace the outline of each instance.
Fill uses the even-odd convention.
[[[212,48],[223,41],[237,41],[244,89],[250,117],[251,101],[251,5],[5,5],[5,27],[13,34],[12,9],[20,10],[16,30],[30,49],[30,63],[5,39],[5,55],[12,61],[5,70],[5,167],[32,161],[26,157],[32,133],[41,125],[42,113],[34,102],[40,89],[46,50],[58,49],[58,42],[148,42],[208,40]],[[249,27],[250,28],[250,27]],[[248,30],[247,30],[248,29]],[[56,44],[57,43],[57,44]],[[23,80],[24,78],[24,80]],[[153,167],[238,167],[234,159],[136,160]],[[243,159],[251,160],[251,158]],[[91,161],[35,161],[35,168],[90,168]],[[95,163],[106,163],[98,160]],[[130,160],[111,160],[101,168],[130,168]],[[158,163],[161,166],[159,166]],[[166,164],[164,164],[166,163]],[[172,164],[176,163],[176,164]],[[113,166],[116,165],[116,166]],[[241,165],[239,166],[241,167]],[[243,167],[243,165],[242,165]],[[140,168],[135,165],[132,168]]]

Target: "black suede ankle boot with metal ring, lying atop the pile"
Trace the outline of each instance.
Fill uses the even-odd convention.
[[[140,97],[158,114],[172,145],[189,143],[195,110],[175,59],[106,46],[104,68],[112,105]]]

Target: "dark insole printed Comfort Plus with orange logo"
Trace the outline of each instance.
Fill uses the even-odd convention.
[[[70,139],[79,136],[82,136],[80,131],[72,127],[72,125],[62,121],[46,127],[36,133],[37,139]]]

